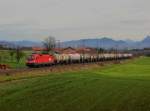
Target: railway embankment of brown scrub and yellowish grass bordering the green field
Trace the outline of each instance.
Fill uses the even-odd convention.
[[[69,65],[53,65],[50,67],[40,68],[19,68],[0,70],[0,82],[7,82],[19,79],[26,79],[38,76],[45,76],[49,74],[63,74],[65,72],[77,72],[91,69],[100,69],[111,65],[125,64],[134,59],[121,61],[104,61],[94,63],[69,64]]]

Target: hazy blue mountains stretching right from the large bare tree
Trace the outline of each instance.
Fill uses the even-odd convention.
[[[74,41],[67,41],[63,42],[62,47],[103,47],[103,48],[118,48],[118,49],[124,49],[124,48],[148,48],[150,47],[150,37],[147,36],[142,41],[131,41],[131,40],[113,40],[109,37],[104,37],[101,39],[81,39],[81,40],[74,40]]]

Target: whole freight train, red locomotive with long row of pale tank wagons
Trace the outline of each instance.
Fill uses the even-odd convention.
[[[103,54],[31,54],[26,61],[28,67],[51,66],[56,64],[89,63],[108,60],[129,59],[129,53],[103,53]]]

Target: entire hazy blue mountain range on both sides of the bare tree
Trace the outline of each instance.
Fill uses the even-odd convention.
[[[12,47],[12,46],[21,46],[21,47],[40,47],[42,42],[34,41],[0,41],[0,45]],[[59,44],[60,47],[102,47],[102,48],[150,48],[150,36],[145,37],[142,41],[132,41],[132,40],[113,40],[109,37],[104,37],[101,39],[81,39],[81,40],[72,40],[65,41]]]

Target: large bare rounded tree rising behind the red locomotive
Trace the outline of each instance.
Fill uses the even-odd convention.
[[[43,41],[43,46],[49,52],[56,46],[56,39],[55,37],[49,36]]]

